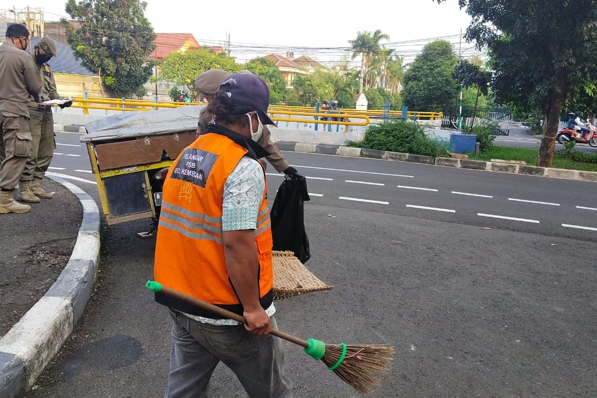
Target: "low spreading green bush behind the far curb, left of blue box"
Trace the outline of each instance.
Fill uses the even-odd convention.
[[[423,127],[413,122],[398,119],[370,125],[362,141],[353,141],[349,145],[392,152],[414,153],[416,155],[448,156],[445,145],[427,137]]]

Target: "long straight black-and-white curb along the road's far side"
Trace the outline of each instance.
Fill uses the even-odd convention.
[[[387,161],[423,163],[426,165],[454,167],[461,169],[506,172],[510,174],[538,175],[541,177],[565,178],[567,180],[597,182],[597,172],[568,169],[544,168],[513,163],[482,162],[469,159],[434,158],[412,153],[389,152],[376,149],[354,148],[328,144],[306,144],[278,142],[281,150],[303,153],[324,153],[325,155],[350,156],[353,158],[384,159]]]

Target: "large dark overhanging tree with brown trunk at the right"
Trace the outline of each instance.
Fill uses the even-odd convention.
[[[437,0],[441,3],[444,0]],[[472,16],[466,39],[488,47],[501,103],[545,115],[538,166],[552,164],[562,106],[597,78],[596,0],[458,0]]]

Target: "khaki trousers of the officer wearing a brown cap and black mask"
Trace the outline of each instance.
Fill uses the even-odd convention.
[[[33,141],[31,156],[27,159],[27,165],[23,171],[23,177],[21,177],[23,181],[44,178],[56,148],[52,110],[29,108],[29,115],[29,129]]]

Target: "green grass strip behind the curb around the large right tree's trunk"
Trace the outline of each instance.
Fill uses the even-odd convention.
[[[491,159],[504,159],[508,161],[524,161],[527,165],[536,166],[539,151],[528,148],[511,148],[504,146],[494,146],[486,152],[475,157],[475,153],[467,153],[469,159],[476,161],[491,161]],[[573,159],[565,158],[562,153],[556,152],[553,155],[552,167],[557,169],[571,169],[583,171],[597,171],[597,163],[578,162]]]

